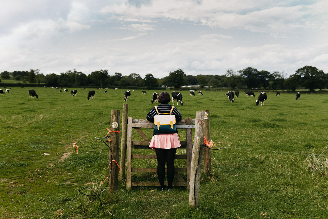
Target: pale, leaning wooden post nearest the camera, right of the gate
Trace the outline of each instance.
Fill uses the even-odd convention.
[[[194,147],[190,169],[189,206],[198,207],[199,184],[202,170],[202,154],[204,143],[204,112],[196,112]]]

